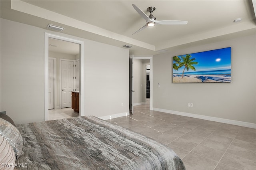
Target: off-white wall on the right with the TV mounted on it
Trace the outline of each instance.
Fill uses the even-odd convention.
[[[231,83],[172,83],[173,56],[224,47],[232,47]],[[154,55],[153,59],[154,110],[256,123],[255,35]]]

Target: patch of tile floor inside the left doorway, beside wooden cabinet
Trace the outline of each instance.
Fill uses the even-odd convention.
[[[71,107],[63,108],[63,109],[50,109],[48,111],[48,120],[56,120],[56,119],[64,119],[69,117],[77,117],[79,113],[74,112]]]

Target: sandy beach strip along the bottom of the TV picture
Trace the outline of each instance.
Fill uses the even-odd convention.
[[[231,82],[231,75],[184,75],[174,74],[173,83],[216,83]]]

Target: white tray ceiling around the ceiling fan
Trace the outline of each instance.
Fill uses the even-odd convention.
[[[156,25],[132,35],[146,24],[132,4],[148,16],[146,9],[154,6],[157,20],[188,24]],[[64,27],[64,34],[131,45],[134,55],[256,34],[255,9],[255,0],[1,0],[1,18],[44,29],[54,24]],[[242,21],[234,23],[236,18]]]

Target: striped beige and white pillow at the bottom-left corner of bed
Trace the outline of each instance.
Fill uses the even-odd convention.
[[[2,136],[0,136],[0,158],[0,170],[7,169],[7,166],[9,166],[10,170],[14,169],[14,166],[10,166],[15,164],[14,150],[7,140],[5,140]]]

